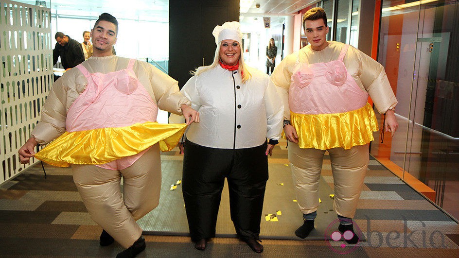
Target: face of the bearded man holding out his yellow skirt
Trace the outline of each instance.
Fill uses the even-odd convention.
[[[93,55],[107,56],[112,54],[113,45],[116,43],[116,25],[105,20],[99,21],[91,30]]]

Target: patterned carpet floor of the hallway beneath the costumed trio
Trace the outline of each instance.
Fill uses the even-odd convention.
[[[306,240],[294,235],[302,224],[295,203],[285,142],[269,158],[270,179],[261,224],[265,251],[255,254],[236,238],[224,189],[217,237],[205,251],[195,250],[187,235],[181,196],[182,156],[178,149],[161,155],[159,207],[139,221],[147,248],[138,257],[459,257],[459,226],[416,191],[370,157],[365,187],[354,221],[365,241],[333,241],[333,177],[324,160],[316,230]],[[115,257],[118,244],[99,246],[102,229],[94,224],[71,178],[70,169],[37,163],[0,186],[0,257]],[[175,187],[174,187],[175,186]]]

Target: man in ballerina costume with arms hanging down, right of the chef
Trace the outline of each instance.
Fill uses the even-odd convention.
[[[353,232],[352,218],[369,163],[368,143],[378,124],[367,103],[371,96],[384,129],[393,136],[397,104],[384,67],[350,45],[327,41],[327,16],[312,8],[303,16],[309,45],[288,55],[271,75],[284,103],[284,132],[305,238],[314,229],[318,184],[325,151],[330,154],[340,232]],[[353,234],[348,243],[356,243]]]

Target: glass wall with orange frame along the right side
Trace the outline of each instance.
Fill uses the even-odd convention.
[[[458,14],[458,1],[383,0],[378,61],[399,101],[400,127],[393,139],[386,135],[384,143],[371,144],[373,156],[397,165],[408,184],[423,183],[420,191],[456,219]]]

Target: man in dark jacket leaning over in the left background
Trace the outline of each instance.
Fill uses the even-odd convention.
[[[85,61],[85,55],[81,44],[71,39],[68,35],[58,32],[54,35],[57,43],[53,49],[54,65],[57,63],[59,56],[61,57],[61,64],[64,69],[72,69],[75,66]]]

